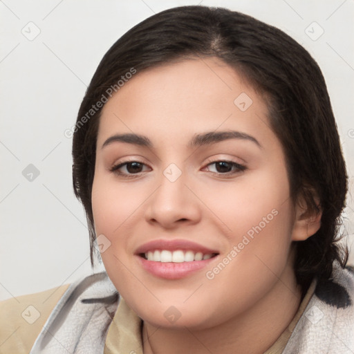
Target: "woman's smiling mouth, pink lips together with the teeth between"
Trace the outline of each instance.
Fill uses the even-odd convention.
[[[218,251],[186,240],[156,240],[135,252],[138,262],[156,277],[181,279],[201,270],[218,256]]]

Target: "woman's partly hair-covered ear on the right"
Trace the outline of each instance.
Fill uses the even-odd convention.
[[[309,191],[318,207],[317,210],[311,210],[304,196],[298,198],[295,205],[295,222],[292,227],[292,241],[305,241],[313,236],[321,227],[322,210],[319,205],[319,198],[315,191]]]

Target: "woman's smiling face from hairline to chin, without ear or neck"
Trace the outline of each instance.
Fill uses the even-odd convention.
[[[97,241],[145,321],[212,327],[294,286],[295,209],[267,113],[215,58],[136,73],[105,104]]]

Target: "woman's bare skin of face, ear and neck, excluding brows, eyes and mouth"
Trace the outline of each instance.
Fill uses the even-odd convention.
[[[240,93],[252,99],[245,111],[234,104]],[[320,215],[306,216],[290,199],[286,158],[267,113],[259,93],[216,58],[137,73],[105,104],[93,216],[97,235],[111,242],[101,254],[106,271],[144,321],[144,353],[263,353],[297,312],[301,289],[291,245],[319,229]],[[188,147],[196,134],[229,130],[247,133],[260,146],[234,138]],[[102,147],[117,133],[147,136],[153,147]],[[135,178],[110,170],[127,159],[145,164],[135,175],[127,165],[120,168]],[[212,163],[225,160],[246,169],[230,168],[230,174]],[[181,171],[173,183],[163,174],[171,163]],[[206,272],[272,210],[272,221],[208,279]],[[187,239],[219,254],[183,279],[160,279],[134,256],[156,239]],[[180,314],[174,323],[164,315],[171,306]]]

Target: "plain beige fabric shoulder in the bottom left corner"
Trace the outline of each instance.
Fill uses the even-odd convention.
[[[69,284],[0,302],[0,354],[26,353]]]

